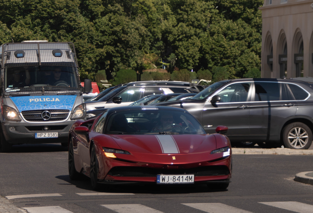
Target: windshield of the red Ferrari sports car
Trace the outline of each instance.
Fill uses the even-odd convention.
[[[186,111],[162,109],[124,110],[108,117],[104,134],[206,134]]]

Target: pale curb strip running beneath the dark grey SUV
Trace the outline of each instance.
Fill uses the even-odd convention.
[[[232,154],[313,155],[313,149],[231,148]]]

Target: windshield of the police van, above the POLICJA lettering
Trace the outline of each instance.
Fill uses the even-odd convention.
[[[69,66],[7,67],[4,69],[5,92],[77,91],[80,88],[75,69]]]

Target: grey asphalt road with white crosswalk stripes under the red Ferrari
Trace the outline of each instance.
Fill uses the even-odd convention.
[[[234,154],[224,191],[136,184],[95,192],[89,178],[69,179],[61,145],[21,145],[0,153],[0,196],[30,213],[312,213],[313,185],[293,180],[313,171],[312,162],[313,155]]]

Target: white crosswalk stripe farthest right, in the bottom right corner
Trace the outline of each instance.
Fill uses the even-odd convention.
[[[312,213],[313,205],[300,203],[296,201],[287,201],[287,202],[259,202],[260,204],[265,204],[268,206],[277,207],[284,210],[289,210],[297,213]]]

